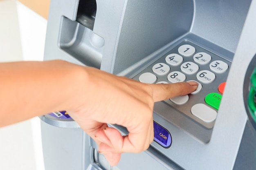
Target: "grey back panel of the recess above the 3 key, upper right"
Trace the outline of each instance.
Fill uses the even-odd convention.
[[[195,0],[191,32],[236,51],[251,0]]]

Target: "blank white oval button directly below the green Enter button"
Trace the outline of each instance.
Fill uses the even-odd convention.
[[[205,121],[207,123],[213,122],[217,117],[217,112],[213,110],[212,108],[209,108],[205,104],[195,104],[191,108],[191,113],[201,119],[202,121]]]

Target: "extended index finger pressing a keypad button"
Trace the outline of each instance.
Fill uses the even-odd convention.
[[[154,102],[169,99],[176,96],[187,95],[196,90],[198,83],[179,82],[169,84],[148,84],[153,89]]]

